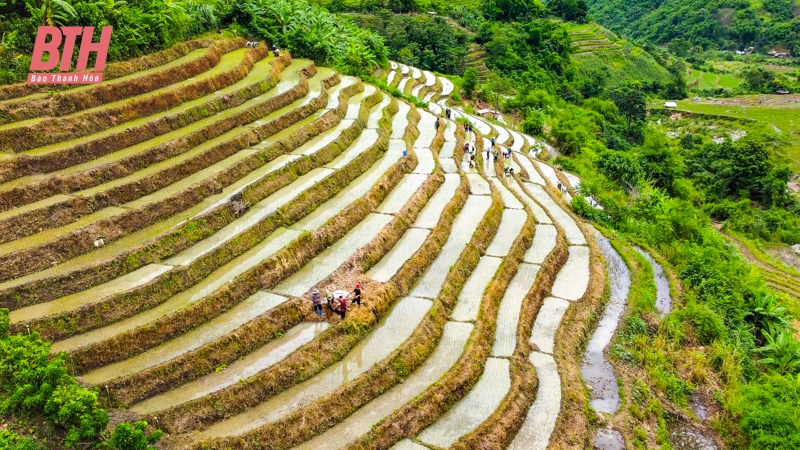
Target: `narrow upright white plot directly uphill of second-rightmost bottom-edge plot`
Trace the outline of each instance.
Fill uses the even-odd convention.
[[[521,263],[511,279],[497,312],[497,323],[500,325],[495,330],[492,356],[511,356],[514,353],[522,302],[533,287],[539,268],[536,264]]]

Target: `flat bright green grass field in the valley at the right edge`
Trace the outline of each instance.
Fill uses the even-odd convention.
[[[737,106],[711,105],[683,100],[678,102],[678,110],[712,116],[750,119],[776,128],[788,142],[787,145],[774,147],[776,156],[788,163],[792,170],[800,171],[800,104],[790,103],[787,106]]]

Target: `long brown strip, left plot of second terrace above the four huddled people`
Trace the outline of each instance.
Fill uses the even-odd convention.
[[[53,344],[51,351],[70,351],[85,345],[100,342],[105,339],[113,338],[136,327],[155,322],[162,317],[172,314],[181,308],[185,308],[210,295],[217,289],[225,286],[228,282],[252,269],[269,256],[275,254],[289,244],[299,235],[293,230],[279,228],[272,235],[267,237],[259,245],[250,249],[247,253],[235,258],[228,264],[212,272],[203,281],[191,288],[170,297],[166,302],[149,309],[133,317],[110,324],[107,327],[83,333],[69,339]]]

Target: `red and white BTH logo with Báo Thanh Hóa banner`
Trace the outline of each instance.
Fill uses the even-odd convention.
[[[39,27],[36,33],[36,42],[33,45],[31,70],[53,70],[58,67],[62,73],[29,73],[28,84],[101,83],[108,57],[108,46],[111,44],[111,30],[112,27],[103,27],[100,32],[100,42],[92,42],[94,27]],[[78,53],[78,65],[75,70],[81,73],[70,72],[72,53],[75,50],[75,41],[78,36],[82,36],[82,38]],[[59,52],[62,42],[64,48]],[[49,55],[49,58],[47,61],[42,61],[45,53]],[[97,55],[94,72],[84,72],[91,53]]]

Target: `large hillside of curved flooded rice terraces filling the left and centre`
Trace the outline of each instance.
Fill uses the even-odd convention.
[[[385,79],[433,113],[263,45],[193,45],[114,81],[135,88],[64,91],[102,102],[0,125],[13,332],[166,448],[545,448],[582,414],[554,354],[596,256],[532,138],[437,121],[453,85],[413,67]],[[0,107],[30,100],[57,107]],[[54,132],[19,141],[34,123]],[[483,160],[489,136],[514,176]],[[313,312],[314,289],[357,283],[344,318]]]

